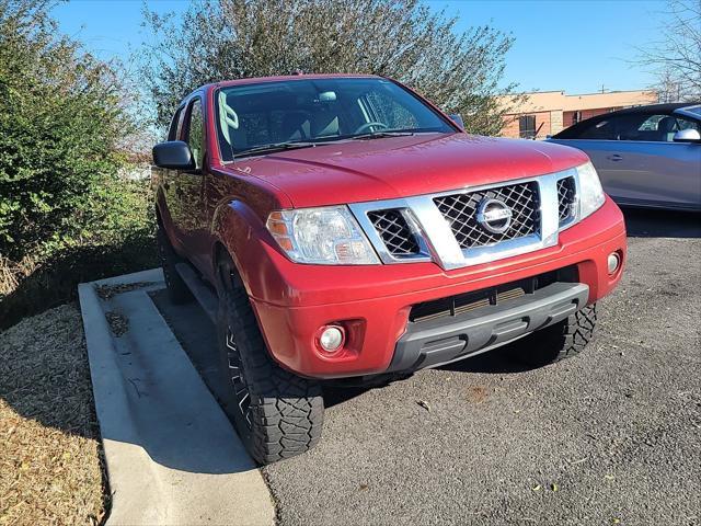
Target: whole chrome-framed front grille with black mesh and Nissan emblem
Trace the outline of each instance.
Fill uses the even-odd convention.
[[[348,207],[383,263],[452,270],[556,245],[578,219],[577,178],[571,169]]]

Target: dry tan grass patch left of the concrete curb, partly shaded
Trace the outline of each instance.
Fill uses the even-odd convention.
[[[0,524],[95,524],[99,427],[80,312],[64,305],[0,333]]]

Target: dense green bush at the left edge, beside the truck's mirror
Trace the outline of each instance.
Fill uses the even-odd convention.
[[[80,281],[153,264],[147,182],[116,70],[58,34],[51,2],[0,0],[0,327]]]

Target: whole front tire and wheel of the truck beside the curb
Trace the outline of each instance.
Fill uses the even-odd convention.
[[[271,358],[245,289],[235,286],[230,268],[222,275],[217,328],[229,388],[225,411],[258,464],[306,453],[321,438],[321,386]]]

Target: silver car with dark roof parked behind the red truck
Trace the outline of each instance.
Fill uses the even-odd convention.
[[[548,139],[586,152],[621,205],[701,210],[701,105],[654,104],[583,121]]]

